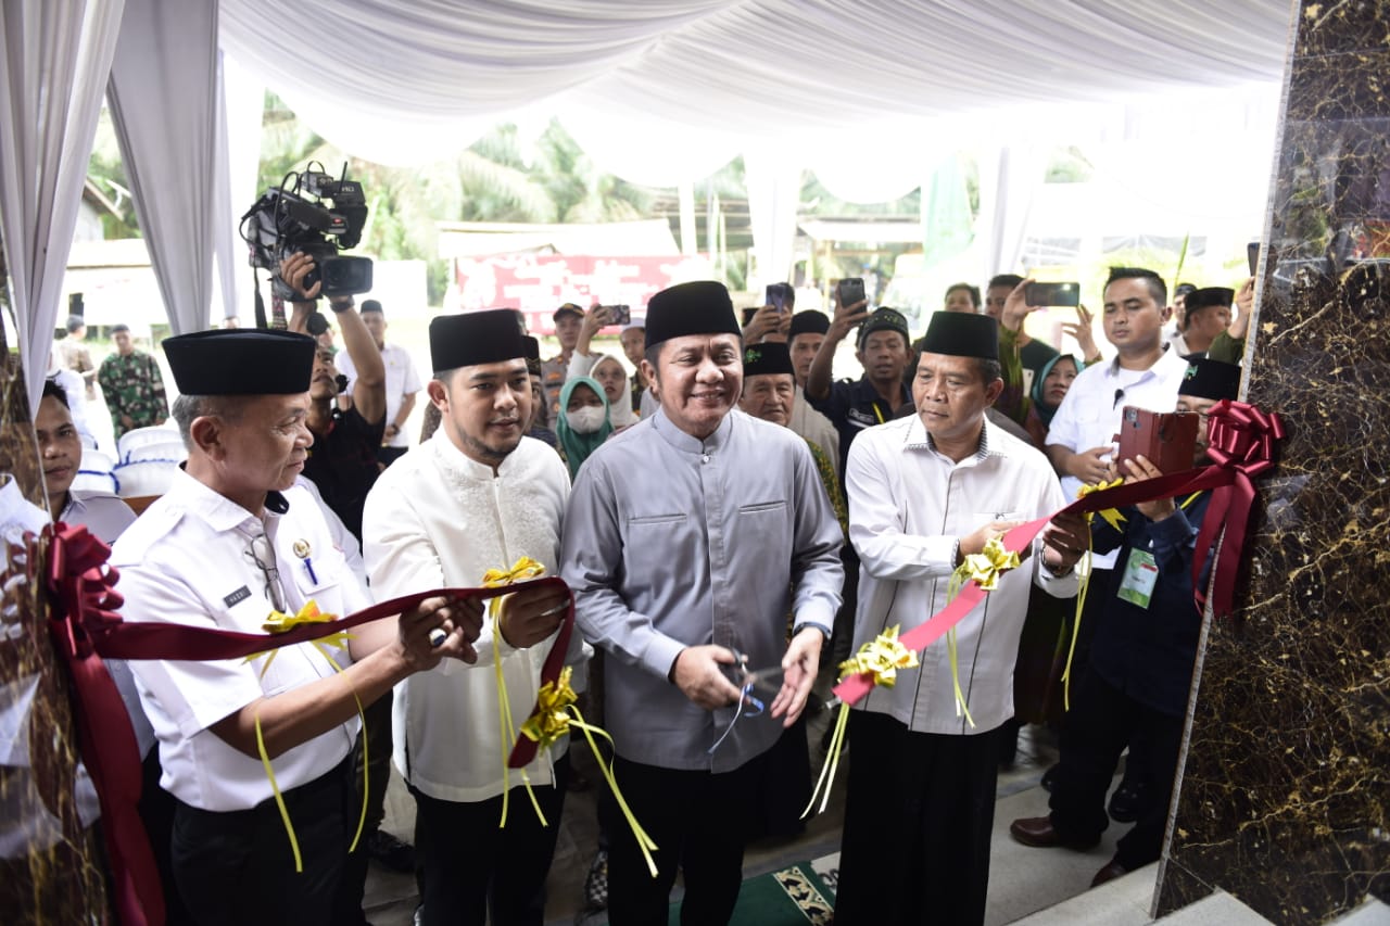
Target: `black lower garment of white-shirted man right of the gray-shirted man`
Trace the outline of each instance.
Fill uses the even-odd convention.
[[[998,729],[912,733],[887,715],[851,713],[837,923],[984,922],[998,741]]]

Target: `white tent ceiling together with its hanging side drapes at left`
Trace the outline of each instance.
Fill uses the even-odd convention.
[[[1141,163],[1201,190],[1195,202],[1208,213],[1238,199],[1248,214],[1259,196],[1248,181],[1268,177],[1293,7],[0,0],[0,165],[14,168],[0,170],[0,214],[31,393],[46,366],[33,357],[46,356],[58,313],[57,277],[113,46],[120,67],[110,89],[124,113],[128,170],[179,190],[186,206],[136,189],[152,256],[164,254],[156,274],[165,309],[175,331],[192,331],[208,320],[208,242],[224,289],[225,271],[240,264],[227,234],[228,199],[236,211],[250,199],[239,175],[254,174],[256,83],[338,147],[385,164],[449,156],[500,121],[537,133],[557,117],[600,170],[681,185],[688,203],[692,181],[741,153],[755,270],[771,279],[791,263],[802,170],[841,199],[883,202],[974,149],[974,235],[984,242],[980,268],[992,273],[1015,266],[1042,156],[1058,143],[1137,140],[1152,156]],[[239,90],[227,78],[225,101],[214,83],[222,72],[245,78]],[[218,189],[227,174],[231,197]],[[1133,171],[1118,179],[1147,184]],[[234,296],[224,298],[235,310]]]

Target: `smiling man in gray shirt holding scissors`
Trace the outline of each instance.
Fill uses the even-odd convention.
[[[681,922],[726,923],[778,747],[805,749],[783,731],[840,606],[841,533],[806,442],[734,410],[742,339],[723,285],[652,298],[642,371],[662,407],[585,462],[562,542],[580,628],[612,653],[617,780],[659,847],[653,879],[626,823],[609,820],[609,913],[614,926],[664,922],[681,866]],[[758,716],[730,681],[734,651],[748,669],[780,667],[767,695],[753,692],[770,701]]]

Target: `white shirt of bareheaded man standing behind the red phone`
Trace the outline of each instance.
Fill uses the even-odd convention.
[[[1047,444],[1073,453],[1113,444],[1126,405],[1150,412],[1172,412],[1177,406],[1177,385],[1187,374],[1187,360],[1168,348],[1148,370],[1123,370],[1119,360],[1081,370],[1052,416]],[[1062,492],[1074,499],[1081,480],[1062,477]],[[1093,558],[1097,569],[1113,569],[1115,553]]]

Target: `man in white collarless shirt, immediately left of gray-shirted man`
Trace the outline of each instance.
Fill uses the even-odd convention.
[[[434,378],[425,388],[439,428],[392,463],[367,496],[363,555],[377,595],[478,585],[489,569],[523,556],[555,574],[570,478],[555,450],[525,437],[527,355],[509,309],[430,323]],[[566,601],[553,588],[509,595],[478,641],[477,666],[421,673],[396,691],[396,767],[416,798],[425,926],[482,926],[489,912],[495,926],[543,922],[569,741],[525,767],[549,820],[543,826],[521,790],[521,773],[503,777],[513,744],[500,730],[498,673],[520,726],[535,704]],[[582,660],[574,634],[569,662]]]

